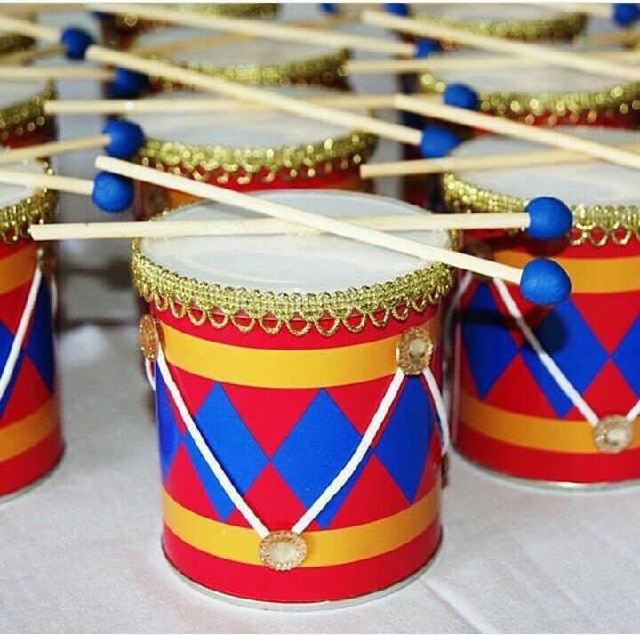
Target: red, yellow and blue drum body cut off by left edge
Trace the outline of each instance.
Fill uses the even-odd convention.
[[[0,497],[34,484],[62,454],[45,277],[15,362],[10,356],[38,266],[31,240],[0,241],[0,372],[7,381],[0,398]]]

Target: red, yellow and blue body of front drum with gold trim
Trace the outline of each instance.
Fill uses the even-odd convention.
[[[350,307],[360,293],[354,288],[349,297],[308,293],[297,316],[297,300],[281,293],[258,318],[269,293],[251,292],[252,301],[244,290],[203,285],[205,294],[220,290],[220,306],[196,309],[188,279],[158,262],[134,246],[134,280],[152,316],[141,320],[140,343],[148,359],[152,342],[161,351],[153,375],[163,548],[172,566],[208,590],[283,606],[378,594],[425,567],[441,539],[433,384],[441,382],[440,305],[452,272],[434,265],[429,298],[394,310],[368,289],[369,301],[355,305],[372,312],[339,317],[339,304]],[[412,280],[415,289],[425,278]],[[387,298],[392,293],[388,287]],[[149,323],[152,333],[142,328]],[[432,352],[426,370],[410,374],[403,342],[415,333]],[[266,535],[233,501],[207,452]],[[305,545],[286,570],[263,553],[281,533]]]

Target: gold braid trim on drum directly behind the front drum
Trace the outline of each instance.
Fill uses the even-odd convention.
[[[229,148],[191,146],[160,139],[148,139],[138,151],[142,165],[185,174],[198,181],[220,185],[236,181],[247,185],[254,179],[270,183],[286,179],[328,177],[335,170],[356,168],[371,157],[377,138],[353,132],[315,144],[279,148]]]

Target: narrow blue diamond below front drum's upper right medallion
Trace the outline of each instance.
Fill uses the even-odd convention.
[[[415,499],[433,433],[435,414],[420,377],[407,377],[375,454],[408,502]]]

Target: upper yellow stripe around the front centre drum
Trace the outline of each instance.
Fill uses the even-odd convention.
[[[439,312],[425,322],[433,342]],[[400,335],[331,349],[250,349],[211,342],[160,322],[164,356],[172,366],[217,382],[257,388],[318,388],[368,382],[396,372]]]

